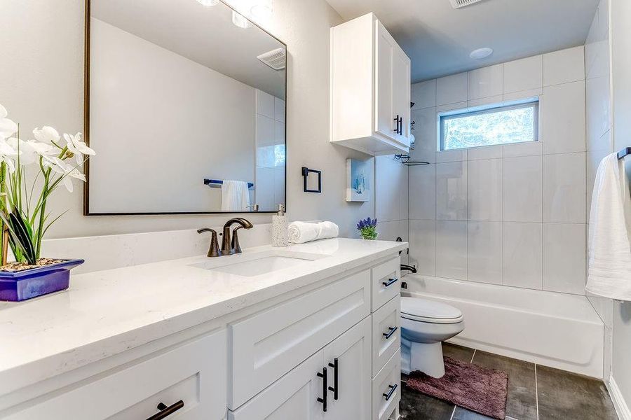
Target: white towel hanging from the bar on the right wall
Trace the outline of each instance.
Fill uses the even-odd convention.
[[[623,162],[612,153],[600,162],[590,213],[589,276],[585,290],[612,299],[631,300],[631,244],[625,225]],[[629,207],[627,207],[629,208]]]

